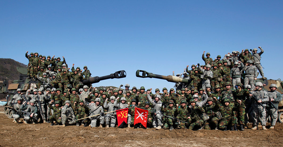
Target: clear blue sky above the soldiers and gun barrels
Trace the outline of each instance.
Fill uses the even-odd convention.
[[[0,1],[0,58],[27,64],[25,52],[66,58],[92,76],[127,77],[93,86],[145,89],[174,83],[136,77],[183,73],[232,51],[264,49],[265,77],[282,77],[283,1]]]

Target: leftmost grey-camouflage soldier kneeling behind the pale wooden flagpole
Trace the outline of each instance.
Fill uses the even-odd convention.
[[[93,103],[94,101],[94,103]],[[102,125],[104,123],[104,110],[103,107],[100,105],[100,98],[95,98],[95,100],[91,100],[91,103],[88,102],[84,102],[85,106],[87,106],[89,108],[89,116],[93,116],[93,115],[97,115],[97,114],[101,114],[98,116],[93,116],[90,117],[91,120],[91,127],[96,127],[97,126],[97,120],[100,121],[100,126],[102,128]]]

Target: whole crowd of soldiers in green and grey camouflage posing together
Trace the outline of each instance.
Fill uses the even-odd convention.
[[[252,129],[258,129],[261,122],[262,129],[267,130],[267,116],[271,118],[269,128],[273,129],[277,120],[276,108],[282,100],[282,95],[276,91],[275,84],[270,85],[270,91],[265,91],[261,82],[253,83],[257,77],[257,68],[265,79],[262,67],[258,65],[263,53],[263,49],[259,48],[261,52],[257,53],[257,49],[254,49],[253,55],[246,49],[240,55],[239,52],[233,51],[223,59],[218,55],[215,60],[210,58],[209,53],[206,54],[207,58],[204,58],[203,52],[205,66],[192,65],[191,70],[188,70],[187,66],[183,77],[176,75],[188,79],[189,84],[177,83],[176,91],[173,88],[168,91],[165,87],[162,91],[155,89],[154,94],[152,89],[145,91],[143,86],[140,89],[130,89],[129,84],[125,85],[125,89],[121,88],[123,85],[117,89],[93,88],[82,84],[83,79],[90,77],[89,71],[85,75],[81,74],[79,67],[76,70],[72,68],[73,72],[69,72],[70,68],[67,66],[62,71],[59,65],[64,66],[63,64],[46,65],[42,70],[41,79],[40,71],[38,76],[34,77],[31,73],[34,74],[35,70],[30,70],[31,78],[41,81],[38,90],[29,89],[23,92],[18,89],[18,94],[14,95],[8,105],[15,109],[15,123],[23,117],[24,123],[50,122],[51,125],[62,126],[76,124],[77,127],[116,127],[115,110],[128,108],[127,126],[143,127],[141,124],[134,125],[135,108],[139,107],[149,110],[147,127],[156,129],[244,131],[250,121]],[[27,54],[26,56],[29,57]],[[49,82],[51,88],[46,87],[48,82],[42,79],[47,72],[54,72],[48,74],[49,79],[50,75],[55,74],[55,79],[60,77],[61,82],[56,83],[53,79]],[[81,78],[76,83],[78,73]],[[69,81],[65,84],[63,81],[67,79]],[[26,113],[21,113],[22,111]],[[85,118],[88,116],[91,117]]]

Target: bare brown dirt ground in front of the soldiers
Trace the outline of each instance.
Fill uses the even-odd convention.
[[[2,110],[2,109],[1,109]],[[268,131],[155,130],[12,123],[0,112],[0,146],[282,146],[283,124]],[[251,126],[249,126],[251,128]],[[261,129],[261,128],[260,128]]]

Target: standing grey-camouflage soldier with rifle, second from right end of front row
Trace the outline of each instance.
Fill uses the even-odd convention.
[[[254,118],[253,128],[252,130],[258,129],[258,117],[261,119],[261,125],[263,130],[267,130],[266,126],[266,111],[265,109],[259,104],[261,103],[263,106],[266,107],[266,102],[269,102],[269,97],[267,91],[263,90],[263,84],[261,82],[256,82],[255,84],[256,90],[252,91],[250,96],[255,96],[252,100],[252,114]]]

